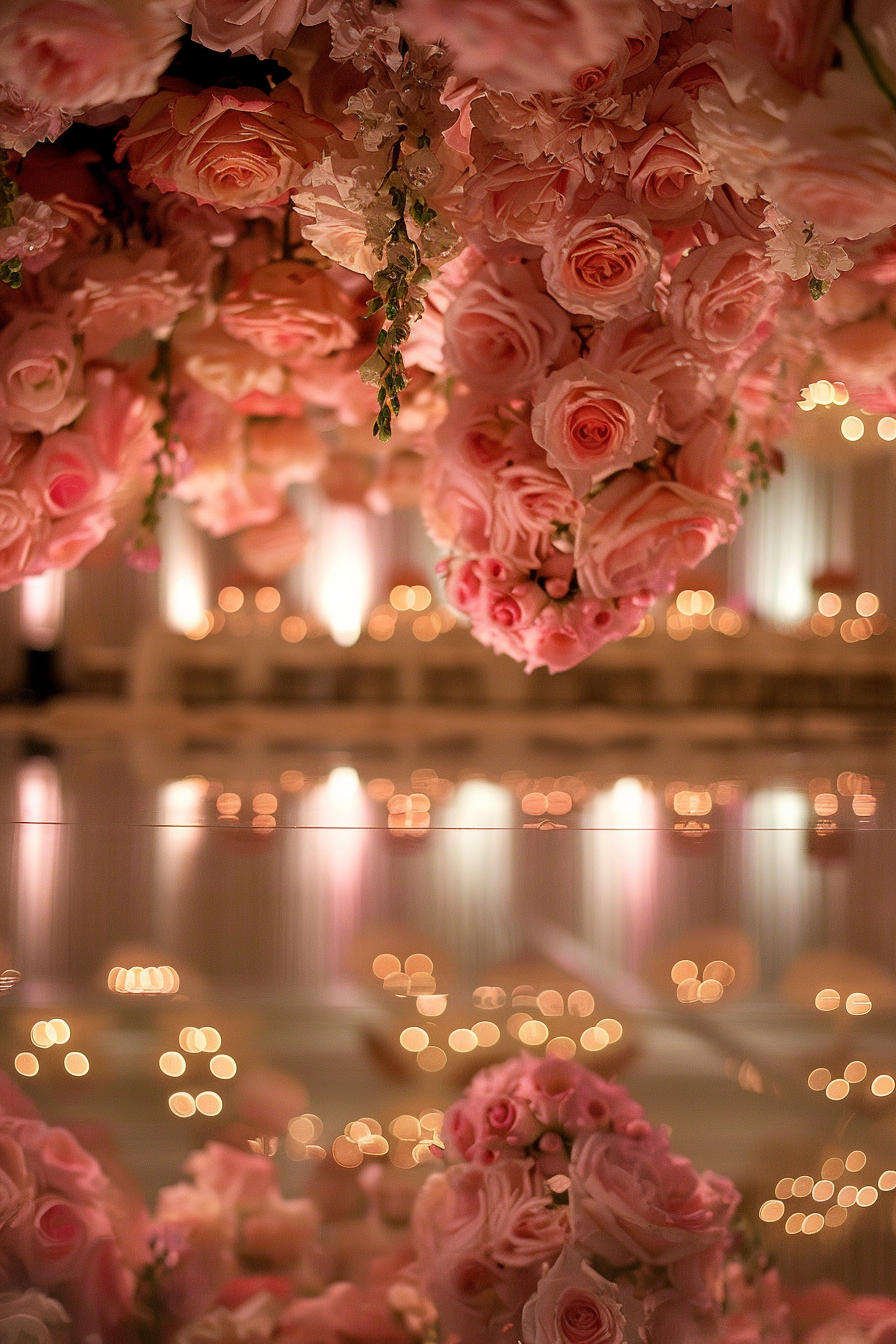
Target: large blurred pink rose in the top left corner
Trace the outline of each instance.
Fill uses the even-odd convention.
[[[184,31],[172,0],[4,0],[0,79],[78,112],[152,93]]]

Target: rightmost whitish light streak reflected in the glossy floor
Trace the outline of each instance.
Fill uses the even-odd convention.
[[[766,980],[802,952],[821,887],[806,853],[809,798],[793,789],[756,789],[744,808],[743,902]]]

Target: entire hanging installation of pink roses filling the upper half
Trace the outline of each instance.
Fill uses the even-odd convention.
[[[3,587],[317,481],[559,671],[896,410],[888,0],[5,0],[0,145]]]

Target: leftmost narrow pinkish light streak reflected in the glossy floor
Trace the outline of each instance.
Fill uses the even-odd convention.
[[[62,793],[52,761],[32,757],[16,777],[16,958],[35,988],[52,973]]]

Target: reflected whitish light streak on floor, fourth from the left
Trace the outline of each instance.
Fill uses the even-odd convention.
[[[442,809],[418,918],[459,965],[481,966],[517,950],[510,911],[516,798],[497,784],[466,780]],[[429,888],[429,890],[427,890]],[[438,966],[435,968],[438,976]]]

